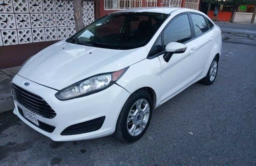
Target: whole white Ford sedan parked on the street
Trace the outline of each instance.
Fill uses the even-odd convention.
[[[28,59],[12,79],[13,113],[54,141],[134,142],[153,109],[214,82],[221,48],[220,28],[200,11],[117,11]]]

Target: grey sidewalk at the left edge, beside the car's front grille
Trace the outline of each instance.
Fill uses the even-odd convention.
[[[20,66],[0,69],[0,112],[14,108],[11,98],[11,79],[18,72]]]

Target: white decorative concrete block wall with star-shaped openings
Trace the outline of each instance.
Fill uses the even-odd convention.
[[[85,25],[94,2],[83,2]],[[72,0],[0,0],[0,46],[66,39],[76,32]]]

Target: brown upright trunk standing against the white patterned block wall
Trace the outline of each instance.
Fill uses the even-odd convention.
[[[76,30],[84,28],[83,22],[83,0],[73,0]]]

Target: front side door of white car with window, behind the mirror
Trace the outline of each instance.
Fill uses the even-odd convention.
[[[173,54],[168,62],[163,58],[164,54],[158,56],[161,63],[161,103],[189,86],[198,76],[197,43],[192,40],[193,35],[189,13],[176,16],[162,32],[164,48],[170,42],[179,42],[187,49],[184,53]]]

